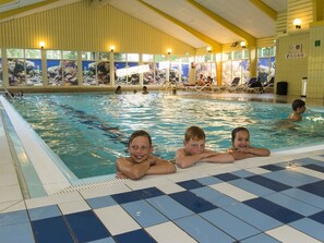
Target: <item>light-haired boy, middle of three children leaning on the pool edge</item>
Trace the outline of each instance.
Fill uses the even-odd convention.
[[[226,153],[205,149],[206,135],[199,126],[190,126],[184,133],[183,148],[176,151],[176,165],[188,168],[196,162],[233,162],[233,157]]]

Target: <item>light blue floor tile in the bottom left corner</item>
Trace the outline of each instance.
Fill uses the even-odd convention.
[[[0,227],[0,242],[3,243],[34,243],[34,235],[29,222]]]

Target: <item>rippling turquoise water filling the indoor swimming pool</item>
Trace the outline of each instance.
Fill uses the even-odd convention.
[[[247,126],[254,146],[272,150],[323,142],[324,111],[308,108],[293,127],[281,121],[290,105],[235,102],[156,94],[46,94],[13,101],[15,109],[77,178],[116,172],[135,130],[146,130],[157,156],[173,158],[191,125],[206,132],[207,148],[224,151],[236,126]]]

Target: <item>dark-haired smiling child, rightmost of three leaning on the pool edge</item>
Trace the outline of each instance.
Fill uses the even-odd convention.
[[[256,156],[269,156],[271,151],[267,148],[256,148],[250,146],[250,132],[245,127],[236,127],[231,131],[232,146],[227,153],[232,155],[235,160],[245,159]]]

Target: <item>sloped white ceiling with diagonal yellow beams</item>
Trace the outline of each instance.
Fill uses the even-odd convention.
[[[4,0],[0,23],[79,0]],[[110,4],[194,47],[217,46],[275,36],[276,14],[288,0],[88,0],[89,8]]]

